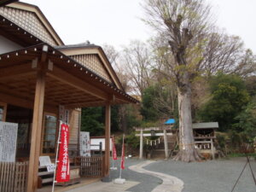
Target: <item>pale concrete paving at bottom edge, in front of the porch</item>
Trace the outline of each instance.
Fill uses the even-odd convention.
[[[80,188],[67,190],[68,192],[129,192],[126,189],[130,189],[131,187],[137,185],[138,182],[126,181],[124,184],[116,184],[113,182],[110,183],[102,183],[96,182],[85,185]]]

